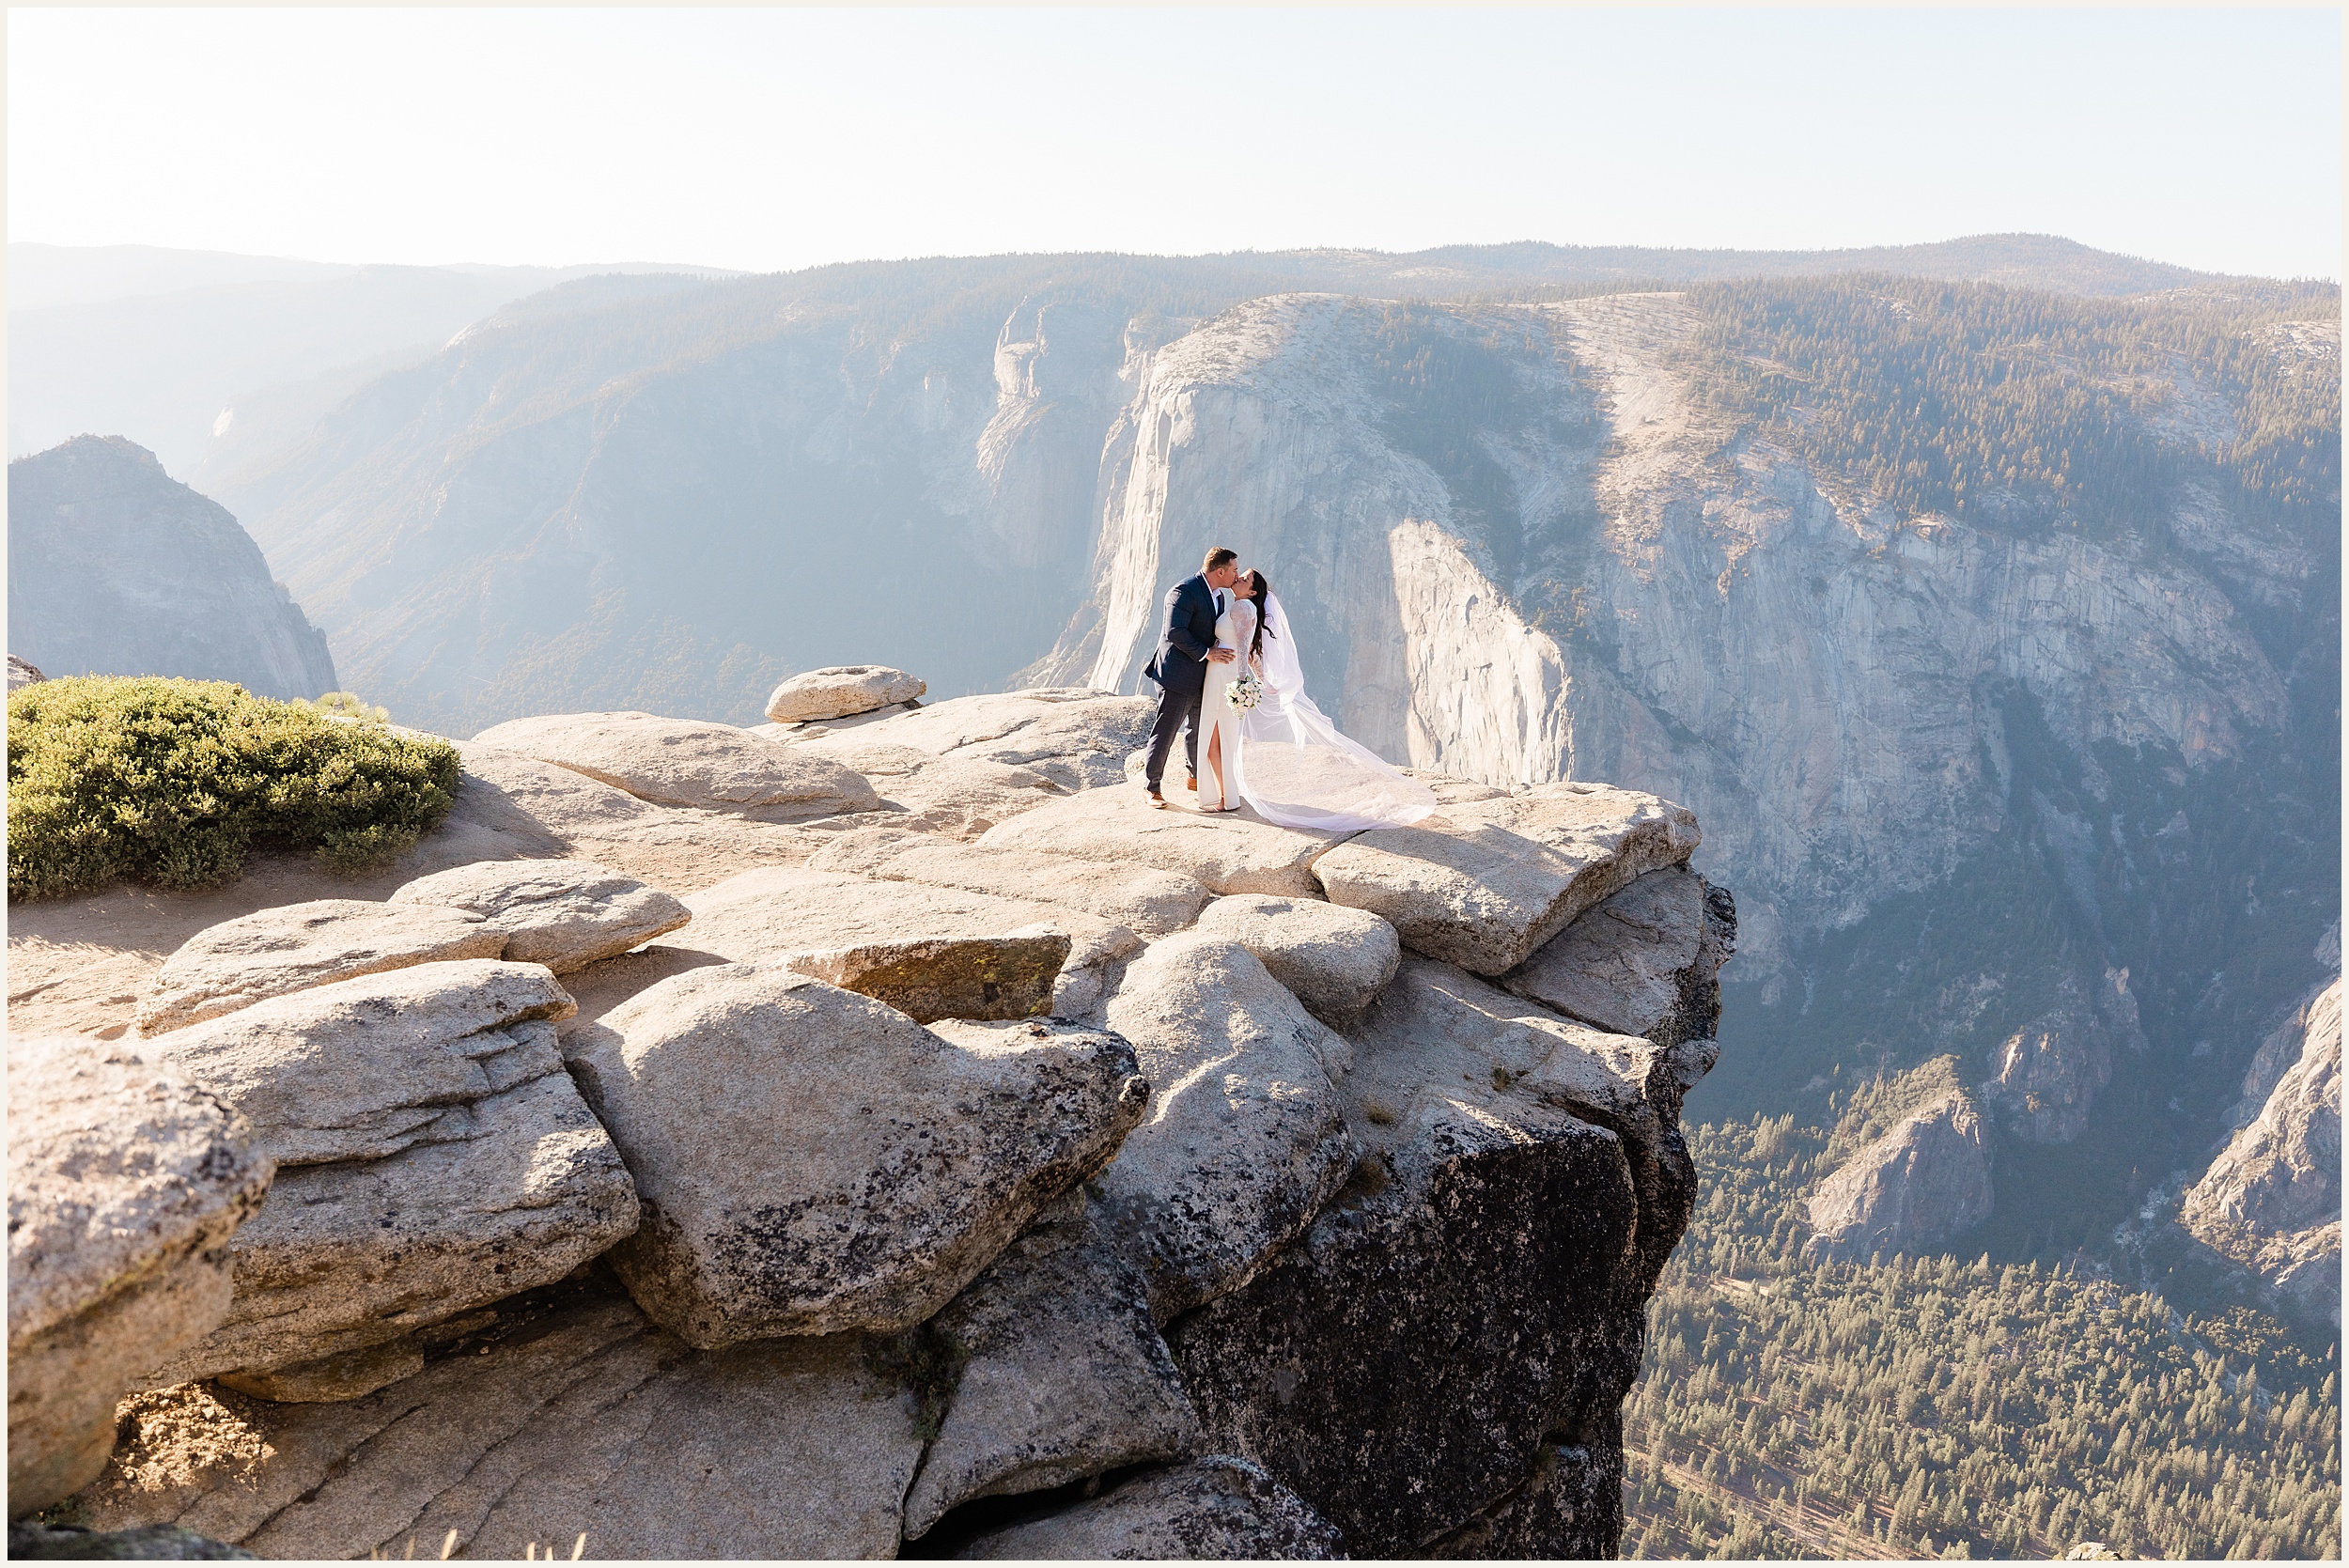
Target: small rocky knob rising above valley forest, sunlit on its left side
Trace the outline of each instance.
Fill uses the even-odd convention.
[[[1990,1202],[1983,1117],[1966,1094],[1945,1094],[1818,1183],[1804,1256],[1917,1258],[1990,1218]]]

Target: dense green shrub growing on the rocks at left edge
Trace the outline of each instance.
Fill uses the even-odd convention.
[[[430,831],[456,777],[449,742],[228,681],[42,681],[7,699],[7,897],[209,887],[254,843],[362,871]]]

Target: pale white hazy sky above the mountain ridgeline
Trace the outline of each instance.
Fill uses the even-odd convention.
[[[9,9],[9,237],[822,261],[2037,230],[2340,277],[2335,9]]]

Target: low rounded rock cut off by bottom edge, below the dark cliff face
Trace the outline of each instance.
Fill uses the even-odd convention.
[[[1144,1472],[956,1556],[1024,1561],[1332,1561],[1339,1533],[1261,1467],[1229,1455]]]

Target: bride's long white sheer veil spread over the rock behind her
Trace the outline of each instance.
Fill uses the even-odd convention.
[[[1346,739],[1306,697],[1297,636],[1276,594],[1264,596],[1264,697],[1240,716],[1231,782],[1266,822],[1353,833],[1400,829],[1435,810],[1435,791]],[[1217,697],[1221,707],[1221,697]],[[1205,756],[1205,753],[1203,753]],[[1224,756],[1233,756],[1226,742]]]

